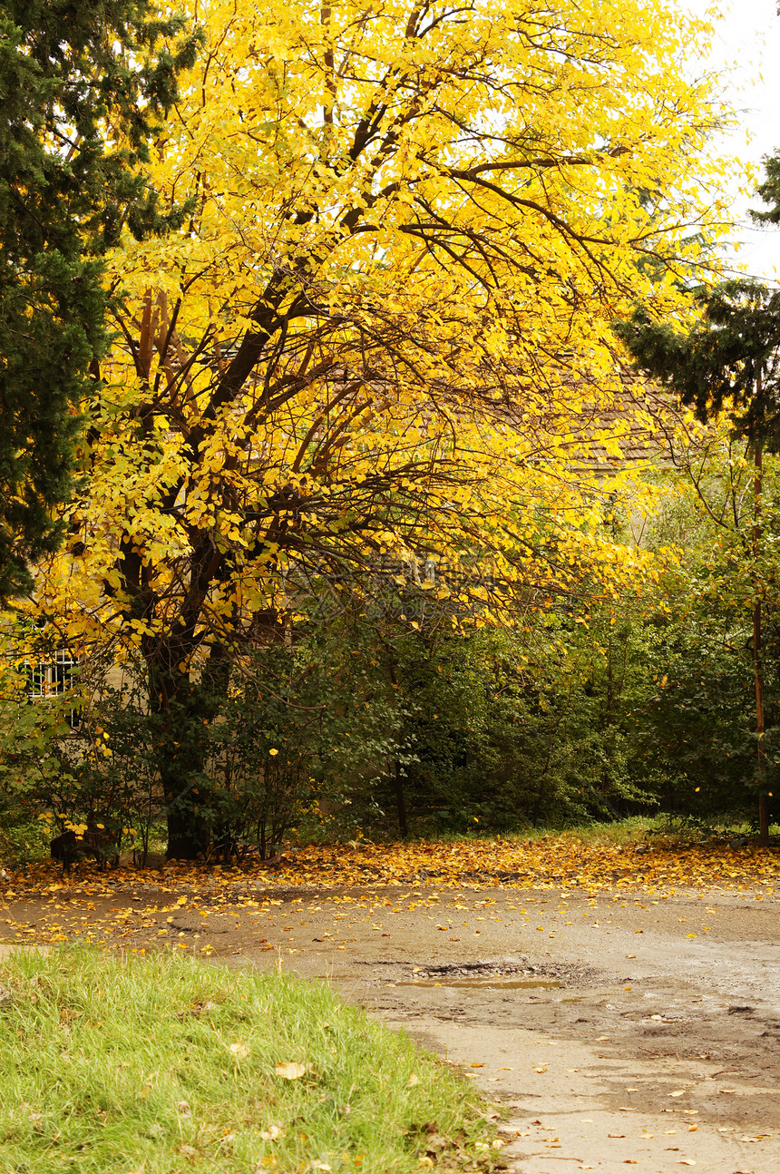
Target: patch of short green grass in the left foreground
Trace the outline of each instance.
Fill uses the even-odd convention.
[[[0,987],[4,1172],[405,1174],[443,1139],[441,1169],[495,1154],[467,1081],[325,984],[62,950],[13,954]],[[290,1061],[305,1075],[277,1074]]]

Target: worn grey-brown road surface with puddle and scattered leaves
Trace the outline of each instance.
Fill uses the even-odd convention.
[[[144,873],[16,884],[0,929],[7,942],[165,943],[330,979],[484,1088],[517,1174],[780,1172],[780,900],[752,890],[282,889]]]

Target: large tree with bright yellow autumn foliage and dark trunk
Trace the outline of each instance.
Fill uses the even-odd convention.
[[[86,488],[38,580],[75,648],[143,657],[185,857],[230,666],[303,596],[406,576],[457,625],[550,606],[583,559],[602,592],[636,569],[583,472],[619,451],[610,322],[638,291],[671,311],[720,216],[691,178],[711,86],[679,65],[701,27],[660,5],[206,20],[154,150],[192,211],[113,256]]]

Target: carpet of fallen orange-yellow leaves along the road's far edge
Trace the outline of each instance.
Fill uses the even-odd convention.
[[[117,869],[99,872],[91,865],[74,871],[70,888],[84,892],[114,890],[137,884],[141,878],[158,882],[161,872]],[[679,891],[711,888],[721,891],[759,886],[780,888],[780,849],[753,844],[652,842],[616,843],[615,836],[594,832],[520,837],[468,838],[460,841],[412,841],[388,844],[310,845],[289,851],[273,866],[257,858],[236,868],[210,868],[169,863],[167,884],[191,883],[201,891],[222,889],[247,877],[282,886],[379,888],[393,884],[457,886],[486,884],[521,889],[581,888],[588,891],[622,889]],[[50,890],[60,870],[47,862],[23,872],[9,873],[7,897]],[[2,888],[0,886],[0,893]]]

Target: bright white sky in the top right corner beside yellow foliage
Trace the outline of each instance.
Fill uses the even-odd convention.
[[[678,7],[706,15],[710,0],[678,0]],[[724,0],[720,20],[713,20],[715,41],[710,65],[731,67],[725,92],[740,112],[741,126],[720,140],[726,153],[760,164],[780,150],[780,16],[778,0]],[[710,16],[708,19],[712,20]],[[697,70],[698,72],[698,70]],[[746,131],[750,142],[746,143]],[[746,212],[761,201],[734,194],[739,217],[735,236],[742,242],[738,262],[765,281],[780,281],[780,225],[759,228]]]

